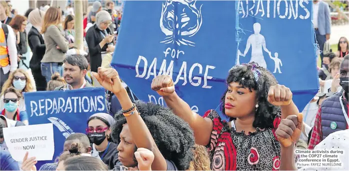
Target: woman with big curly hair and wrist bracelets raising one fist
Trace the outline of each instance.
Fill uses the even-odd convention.
[[[168,108],[140,101],[132,103],[115,69],[99,67],[98,73],[92,74],[101,86],[115,94],[122,107],[114,117],[111,138],[118,144],[118,159],[124,167],[136,167],[134,152],[144,148],[154,154],[153,171],[189,168],[194,137],[187,123]]]

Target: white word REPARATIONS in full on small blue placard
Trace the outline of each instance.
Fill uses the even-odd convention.
[[[68,97],[66,99],[59,97],[30,101],[30,117],[32,117],[33,114],[35,114],[35,116],[42,116],[48,113],[100,112],[105,108],[104,101],[103,96]]]

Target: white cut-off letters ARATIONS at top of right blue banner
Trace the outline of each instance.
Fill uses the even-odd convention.
[[[263,17],[265,11],[267,18],[270,18],[270,12],[272,12],[271,17],[273,18],[297,19],[299,17],[307,19],[310,17],[310,11],[304,5],[304,3],[309,3],[308,0],[266,0],[265,9],[263,1],[265,2],[265,0],[239,0],[238,7],[239,13],[242,13],[242,18],[248,15]],[[270,1],[273,1],[273,4],[270,5]],[[302,12],[298,13],[298,8],[302,9]]]

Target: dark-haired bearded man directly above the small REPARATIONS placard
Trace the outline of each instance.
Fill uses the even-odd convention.
[[[84,56],[79,54],[68,55],[65,57],[63,63],[63,77],[67,84],[57,87],[54,90],[75,90],[93,87],[85,80],[88,62]]]

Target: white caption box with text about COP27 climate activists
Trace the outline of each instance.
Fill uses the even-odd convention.
[[[342,167],[342,150],[296,150],[297,167]]]

